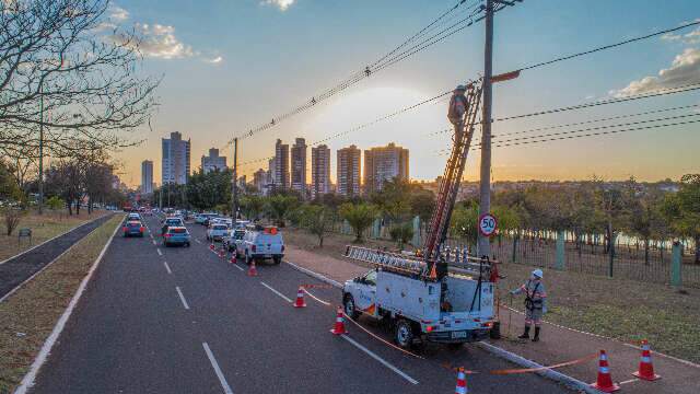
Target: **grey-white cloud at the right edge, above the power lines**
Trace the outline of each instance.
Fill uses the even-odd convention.
[[[684,50],[676,56],[670,67],[658,71],[658,76],[632,81],[623,89],[610,91],[610,94],[623,97],[690,83],[700,83],[700,49],[698,48]]]

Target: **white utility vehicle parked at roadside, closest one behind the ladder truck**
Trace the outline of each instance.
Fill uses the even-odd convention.
[[[246,229],[236,253],[245,258],[246,264],[269,258],[280,264],[284,257],[284,240],[276,227],[252,224]]]

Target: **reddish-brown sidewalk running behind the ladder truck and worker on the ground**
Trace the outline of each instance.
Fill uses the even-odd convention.
[[[368,268],[358,266],[342,257],[320,256],[290,245],[287,245],[287,259],[339,282],[368,270]],[[514,304],[514,306],[518,308],[520,303]],[[510,334],[509,318],[512,324]],[[632,372],[638,369],[641,355],[641,350],[632,345],[549,323],[542,325],[541,340],[537,344],[516,339],[522,332],[523,315],[520,312],[501,308],[501,334],[503,339],[490,340],[490,343],[542,366],[579,359],[604,349],[609,357],[610,373],[614,381],[623,383],[621,392],[640,394],[700,393],[700,366],[654,354],[654,344],[650,344],[652,346],[652,360],[655,372],[662,379],[655,382],[646,382],[639,381],[632,376]],[[506,335],[509,336],[508,338]],[[557,369],[557,371],[583,382],[594,382],[597,366],[597,360],[594,360],[583,364]]]

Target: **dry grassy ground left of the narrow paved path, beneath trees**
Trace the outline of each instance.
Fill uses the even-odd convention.
[[[0,260],[10,258],[34,245],[38,245],[46,240],[50,240],[56,235],[62,234],[70,229],[107,213],[107,211],[100,210],[88,215],[88,210],[85,209],[81,210],[80,215],[73,216],[51,211],[46,211],[39,216],[36,211],[32,211],[22,217],[20,225],[10,236],[7,235],[3,223],[0,225],[0,230],[2,230],[2,233],[0,233]],[[19,229],[32,229],[32,244],[30,244],[28,239],[24,237],[21,242],[18,242],[16,232]]]

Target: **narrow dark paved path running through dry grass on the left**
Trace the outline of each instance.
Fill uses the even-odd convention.
[[[82,240],[83,236],[109,220],[109,218],[112,218],[112,215],[100,217],[0,264],[0,299],[51,263],[71,245]]]

